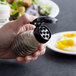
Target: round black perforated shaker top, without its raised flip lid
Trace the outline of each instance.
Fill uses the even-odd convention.
[[[48,23],[42,23],[39,27],[34,30],[34,36],[36,40],[40,43],[46,43],[51,38],[51,31],[47,26]]]

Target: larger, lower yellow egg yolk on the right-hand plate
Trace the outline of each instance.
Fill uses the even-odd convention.
[[[57,41],[57,47],[61,50],[64,50],[64,48],[69,48],[72,46],[74,46],[74,40],[72,39]]]

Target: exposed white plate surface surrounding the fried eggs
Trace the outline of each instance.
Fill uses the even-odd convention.
[[[63,53],[63,54],[68,54],[68,55],[76,55],[76,52],[68,52],[64,50],[60,50],[56,48],[56,42],[61,38],[62,34],[67,34],[67,33],[75,33],[76,31],[66,31],[66,32],[60,32],[53,34],[49,42],[47,43],[47,47],[52,49],[55,52]]]

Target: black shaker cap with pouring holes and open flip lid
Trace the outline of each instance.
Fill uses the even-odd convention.
[[[34,36],[40,43],[46,43],[51,38],[51,24],[56,24],[57,19],[49,16],[40,16],[33,20],[31,24],[35,25]]]

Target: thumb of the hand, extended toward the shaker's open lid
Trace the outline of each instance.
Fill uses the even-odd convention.
[[[20,18],[12,21],[15,27],[21,28],[25,24],[32,22],[36,17],[28,14],[23,14]]]

